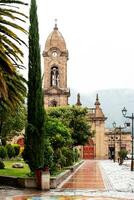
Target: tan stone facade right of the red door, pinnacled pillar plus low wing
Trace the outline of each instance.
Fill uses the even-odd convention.
[[[121,149],[126,149],[128,153],[131,152],[131,133],[120,131],[119,129],[106,129],[104,113],[100,107],[98,95],[96,97],[95,108],[89,108],[88,121],[91,129],[95,131],[93,138],[94,142],[94,158],[96,159],[112,159],[118,158],[118,152]]]

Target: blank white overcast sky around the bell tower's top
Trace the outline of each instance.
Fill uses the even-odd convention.
[[[58,19],[69,51],[68,87],[134,88],[134,0],[37,0],[37,6],[41,53]]]

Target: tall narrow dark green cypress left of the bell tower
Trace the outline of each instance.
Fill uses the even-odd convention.
[[[44,167],[45,110],[36,0],[31,0],[29,28],[28,117],[24,160],[31,171]]]

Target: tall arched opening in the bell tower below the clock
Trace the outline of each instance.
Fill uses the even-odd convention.
[[[57,66],[51,68],[51,86],[59,87],[59,69]]]

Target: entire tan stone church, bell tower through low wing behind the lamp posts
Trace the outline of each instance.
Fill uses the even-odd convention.
[[[66,42],[55,23],[53,31],[49,34],[43,51],[44,59],[44,107],[56,107],[68,105],[70,89],[67,86],[67,61],[69,59]],[[80,94],[77,95],[77,106],[82,106]],[[127,149],[131,152],[130,132],[114,132],[114,129],[106,129],[104,115],[98,94],[93,108],[88,108],[87,120],[95,136],[89,139],[88,144],[80,146],[83,159],[108,159],[113,154],[118,157],[118,151]],[[13,143],[24,146],[23,135],[15,137]]]

